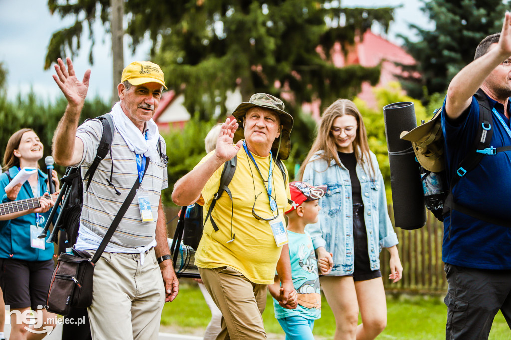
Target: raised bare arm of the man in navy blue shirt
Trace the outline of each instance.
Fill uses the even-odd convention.
[[[499,42],[490,46],[488,53],[463,67],[451,80],[446,99],[446,114],[450,118],[459,117],[469,107],[477,89],[482,87],[485,90],[483,82],[490,72],[511,56],[510,16],[509,12],[504,15]]]

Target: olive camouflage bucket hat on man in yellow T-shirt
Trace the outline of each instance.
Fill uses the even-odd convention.
[[[262,107],[264,109],[270,109],[275,111],[281,119],[282,132],[280,137],[275,138],[271,151],[276,155],[278,150],[278,156],[281,159],[288,159],[289,153],[291,152],[291,130],[293,129],[294,119],[293,116],[284,111],[284,102],[274,97],[271,94],[266,93],[255,93],[252,94],[248,102],[243,102],[234,110],[233,116],[238,122],[238,129],[234,133],[233,140],[236,143],[238,140],[243,139],[243,118],[248,109],[252,107]],[[280,144],[280,150],[278,144]]]

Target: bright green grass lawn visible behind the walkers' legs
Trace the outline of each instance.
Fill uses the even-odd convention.
[[[317,339],[333,338],[335,319],[326,299],[322,301],[322,317],[314,324]],[[387,328],[379,339],[436,340],[445,338],[447,307],[443,297],[405,296],[387,297]],[[188,334],[201,334],[210,321],[210,311],[204,302],[199,288],[181,280],[177,298],[166,303],[161,315],[161,325],[173,331]],[[273,314],[273,301],[268,295],[268,303],[263,313],[265,328],[271,338],[284,339],[284,331]],[[490,332],[492,340],[511,340],[511,331],[502,314],[495,317]]]

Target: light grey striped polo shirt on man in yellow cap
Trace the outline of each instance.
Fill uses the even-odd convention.
[[[74,166],[82,165],[82,177],[85,176],[89,165],[96,157],[102,133],[103,125],[99,119],[88,120],[78,127],[76,135],[83,141],[84,150],[82,160]],[[160,141],[161,152],[166,153],[167,146],[161,136]],[[86,192],[85,183],[83,186],[83,209],[80,227],[85,226],[101,237],[105,236],[115,214],[121,208],[135,180],[138,179],[135,153],[129,149],[117,129],[114,129],[111,153],[111,155],[108,153],[100,162]],[[107,182],[107,179],[110,180],[112,159],[113,175],[111,182],[121,192],[120,196],[115,194],[114,188]],[[151,159],[141,188],[144,190],[144,195],[149,197],[154,220],[153,222],[142,223],[140,209],[138,208],[139,194],[137,194],[110,242],[128,248],[147,246],[155,236],[161,190],[167,187],[167,164],[162,159]]]

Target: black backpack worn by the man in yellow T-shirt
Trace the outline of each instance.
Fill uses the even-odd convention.
[[[174,271],[176,276],[179,277],[191,277],[199,279],[199,273],[196,266],[193,264],[195,260],[195,251],[199,245],[199,241],[202,237],[203,221],[210,219],[213,230],[218,231],[218,226],[211,217],[211,213],[215,204],[217,203],[222,193],[225,191],[232,201],[228,185],[233,179],[236,171],[237,157],[234,156],[230,160],[226,161],[223,165],[222,174],[220,175],[220,184],[218,191],[213,196],[213,201],[207,210],[206,217],[203,219],[202,206],[194,203],[189,206],[181,207],[179,211],[179,220],[177,221],[176,231],[172,238],[170,246],[170,253],[172,254],[172,260],[174,263]],[[287,175],[284,163],[278,158],[275,163],[282,172],[284,183],[286,183]],[[234,235],[233,235],[234,237]],[[170,241],[170,240],[169,240]]]

